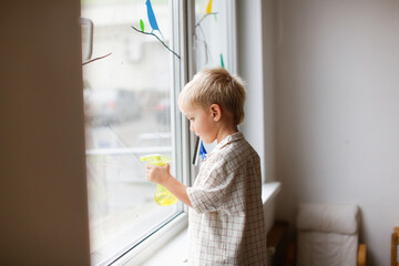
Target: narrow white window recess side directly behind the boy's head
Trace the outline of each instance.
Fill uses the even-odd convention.
[[[237,69],[247,89],[242,131],[259,154],[265,173],[262,0],[237,0]]]

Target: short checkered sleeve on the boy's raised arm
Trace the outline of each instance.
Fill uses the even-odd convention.
[[[187,195],[193,208],[197,213],[235,212],[243,208],[243,198],[237,180],[239,171],[233,170],[228,164],[216,164],[200,185],[187,188]]]

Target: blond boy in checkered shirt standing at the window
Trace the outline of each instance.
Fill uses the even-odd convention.
[[[190,130],[216,147],[202,162],[192,187],[170,174],[170,166],[146,166],[190,206],[190,265],[266,265],[266,228],[259,156],[237,125],[244,120],[245,88],[224,69],[197,73],[183,89],[178,106]]]

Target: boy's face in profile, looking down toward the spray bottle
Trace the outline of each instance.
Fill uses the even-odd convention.
[[[217,126],[215,115],[209,110],[203,108],[192,108],[185,110],[184,114],[190,120],[190,130],[200,136],[205,143],[213,143],[217,137]]]

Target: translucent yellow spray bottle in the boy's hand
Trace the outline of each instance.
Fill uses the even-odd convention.
[[[151,154],[140,157],[140,161],[149,162],[149,164],[155,166],[163,166],[167,163],[171,163],[172,158],[161,154]],[[154,198],[155,202],[161,206],[170,206],[177,203],[177,198],[163,185],[160,184],[156,186]]]

